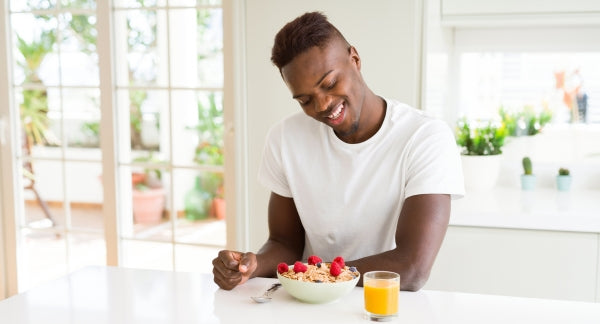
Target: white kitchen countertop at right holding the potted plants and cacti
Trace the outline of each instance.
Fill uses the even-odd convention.
[[[600,233],[600,190],[467,192],[452,202],[450,225]]]

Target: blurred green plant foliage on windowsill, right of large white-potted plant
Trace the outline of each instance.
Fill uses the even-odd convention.
[[[513,112],[500,107],[498,113],[506,125],[508,136],[535,135],[552,120],[550,109],[544,108],[537,113],[532,106],[524,106],[523,109]]]

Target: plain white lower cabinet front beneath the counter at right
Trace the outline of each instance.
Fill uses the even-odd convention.
[[[600,301],[598,234],[450,226],[425,289]]]

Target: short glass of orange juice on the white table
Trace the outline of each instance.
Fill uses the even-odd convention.
[[[363,275],[365,311],[372,321],[398,316],[400,275],[390,271],[370,271]]]

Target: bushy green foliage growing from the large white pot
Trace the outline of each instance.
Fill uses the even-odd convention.
[[[468,122],[465,118],[457,123],[456,143],[462,147],[463,155],[497,155],[502,153],[506,138],[503,123]]]

